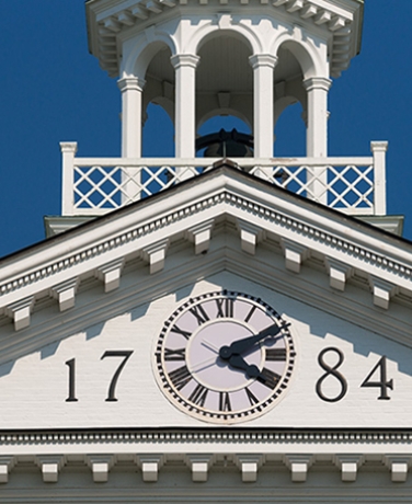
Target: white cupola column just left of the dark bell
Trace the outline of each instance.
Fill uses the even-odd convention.
[[[175,70],[175,157],[195,157],[196,136],[196,67],[199,57],[190,54],[175,55],[171,62]]]

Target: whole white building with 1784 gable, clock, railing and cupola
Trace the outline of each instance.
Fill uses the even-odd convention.
[[[363,1],[85,10],[118,79],[122,153],[61,142],[50,238],[1,261],[3,501],[401,502],[412,244],[386,215],[387,142],[328,153]],[[296,101],[307,154],[277,158]],[[149,103],[175,157],[141,156]],[[199,137],[221,115],[251,135]]]

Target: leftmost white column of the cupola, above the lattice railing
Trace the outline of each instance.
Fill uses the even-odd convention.
[[[117,82],[122,91],[122,157],[141,157],[141,94],[145,80],[125,77]]]

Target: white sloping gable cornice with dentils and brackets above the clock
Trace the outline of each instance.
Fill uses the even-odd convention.
[[[1,260],[0,314],[11,318],[16,331],[26,330],[41,299],[55,298],[66,311],[75,307],[79,285],[93,277],[106,293],[115,290],[124,265],[136,259],[149,265],[152,284],[160,285],[162,275],[154,274],[164,268],[171,244],[193,242],[195,257],[208,251],[214,227],[224,221],[240,240],[236,257],[226,257],[221,267],[264,283],[267,265],[260,263],[256,251],[261,245],[272,248],[283,255],[284,271],[276,272],[276,282],[286,294],[310,303],[323,298],[323,308],[333,311],[337,308],[336,299],[330,299],[332,291],[340,296],[341,314],[351,313],[377,331],[385,321],[388,337],[412,344],[409,318],[398,311],[388,314],[391,300],[412,307],[411,242],[228,162]],[[207,270],[214,261],[206,254],[196,267]],[[319,286],[299,275],[308,267],[321,272]],[[348,283],[371,296],[354,303],[346,293]]]

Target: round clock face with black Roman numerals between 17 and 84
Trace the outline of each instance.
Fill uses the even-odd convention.
[[[190,299],[165,321],[154,369],[162,391],[181,410],[236,423],[275,404],[294,360],[281,316],[261,299],[224,290]]]

